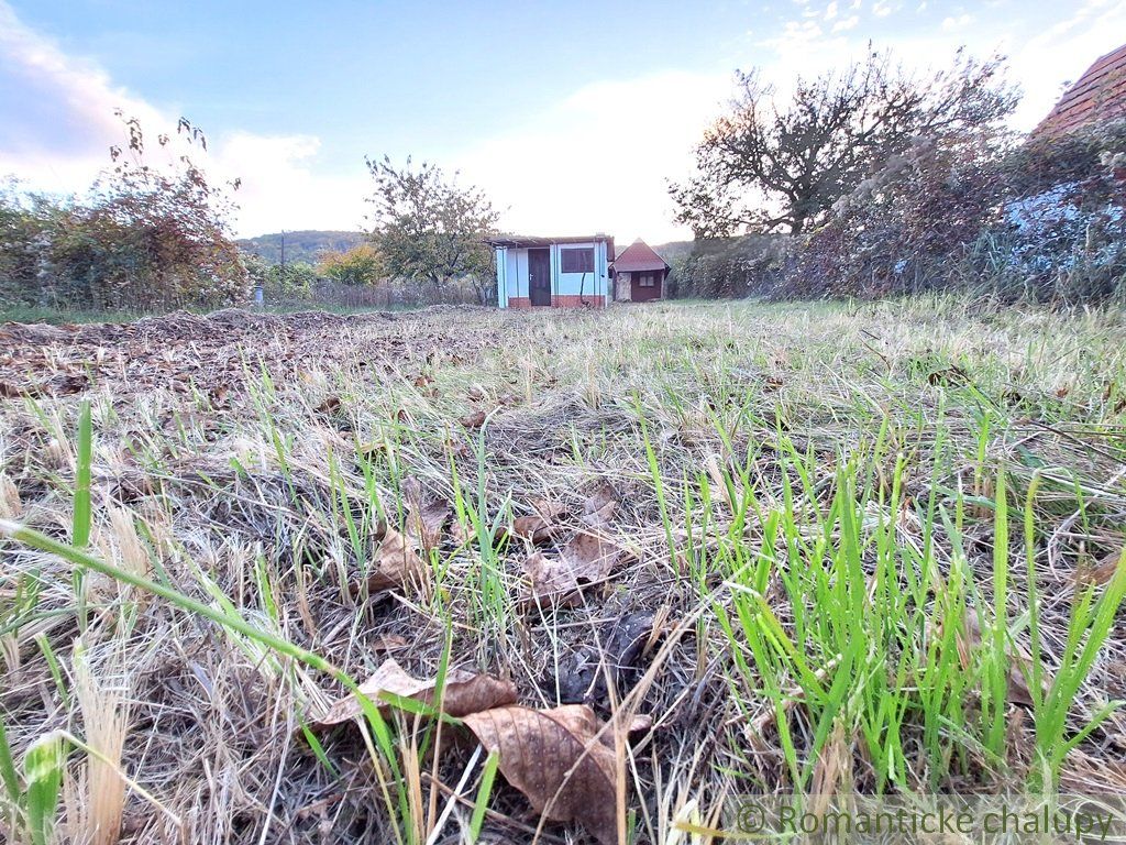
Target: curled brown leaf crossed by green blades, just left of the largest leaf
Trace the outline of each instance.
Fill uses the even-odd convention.
[[[359,685],[359,691],[372,700],[381,713],[386,714],[391,704],[381,701],[381,694],[391,693],[401,699],[411,699],[437,706],[438,702],[435,701],[436,686],[437,683],[434,679],[420,681],[408,675],[393,657],[388,657],[372,677]],[[491,675],[465,671],[464,669],[450,669],[446,673],[441,710],[455,719],[461,719],[480,710],[513,704],[516,699],[516,685],[511,681],[499,681]],[[348,694],[329,708],[321,718],[315,719],[313,724],[319,728],[328,728],[350,719],[357,719],[363,712],[356,695]]]

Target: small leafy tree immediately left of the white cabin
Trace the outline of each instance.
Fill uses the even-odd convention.
[[[367,159],[375,179],[372,241],[391,276],[425,283],[440,299],[450,279],[467,278],[482,302],[492,288],[492,251],[483,239],[500,213],[480,188],[457,184],[435,164],[417,170]]]

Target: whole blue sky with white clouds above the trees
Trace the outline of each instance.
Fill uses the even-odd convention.
[[[690,237],[667,184],[736,69],[785,90],[869,42],[919,69],[1001,52],[1028,130],[1123,39],[1126,0],[0,0],[0,178],[82,193],[122,109],[206,133],[239,235],[365,228],[388,154],[457,171],[509,232],[661,243]]]

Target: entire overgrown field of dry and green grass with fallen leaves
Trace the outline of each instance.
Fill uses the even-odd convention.
[[[11,842],[1126,793],[1120,311],[9,324],[0,469]]]

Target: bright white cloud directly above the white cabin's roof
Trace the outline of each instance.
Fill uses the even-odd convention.
[[[690,237],[671,221],[665,178],[683,178],[727,74],[668,72],[598,82],[457,160],[508,211],[501,225],[543,234],[607,232],[652,243]]]

